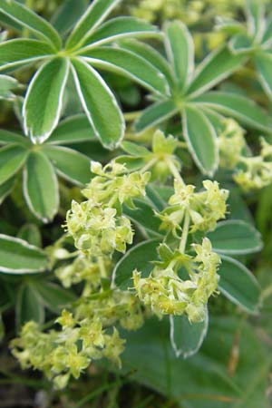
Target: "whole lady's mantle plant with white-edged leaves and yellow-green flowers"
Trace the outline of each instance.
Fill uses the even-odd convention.
[[[65,235],[52,246],[41,249],[36,240],[0,236],[1,272],[27,274],[18,303],[23,306],[31,297],[35,309],[33,319],[21,318],[26,323],[12,341],[13,354],[23,368],[43,371],[58,388],[71,376],[78,378],[93,360],[106,357],[120,366],[125,347],[120,327],[136,330],[148,316],[169,316],[173,349],[188,356],[206,335],[212,296],[222,293],[251,314],[260,304],[256,278],[236,257],[260,250],[261,238],[248,222],[226,219],[229,191],[207,178],[220,166],[245,189],[272,180],[271,145],[262,139],[260,155],[251,154],[237,122],[268,133],[267,113],[238,92],[213,90],[248,63],[248,55],[233,53],[226,44],[195,69],[194,44],[184,24],[167,23],[160,33],[132,17],[104,22],[118,3],[94,0],[63,40],[24,5],[0,1],[0,19],[37,38],[0,44],[4,73],[37,68],[24,95],[25,136],[0,132],[1,197],[23,170],[27,204],[47,222],[59,204],[56,175],[84,186],[83,200],[73,199],[67,212]],[[248,2],[256,22],[257,4]],[[166,58],[151,45],[127,38],[136,36],[162,41]],[[122,141],[124,115],[96,69],[125,74],[151,92],[151,106],[134,123],[146,143],[135,142],[139,134],[134,142]],[[59,124],[69,75],[87,118],[73,116]],[[17,99],[16,80],[1,77],[2,97]],[[177,115],[182,141],[180,131],[173,136],[154,129],[166,121],[175,124]],[[123,154],[113,152],[113,159],[102,164],[76,147],[63,147],[95,137],[108,149],[119,146]],[[201,183],[187,183],[183,176],[188,151],[206,175]],[[48,282],[48,271],[64,288],[76,285],[76,292]],[[36,274],[43,274],[44,286]],[[52,293],[62,297],[56,307],[55,300],[48,301]],[[39,325],[44,308],[63,308],[49,331]],[[180,339],[184,324],[187,337]]]

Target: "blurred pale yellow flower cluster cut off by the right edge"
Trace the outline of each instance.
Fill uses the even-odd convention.
[[[261,138],[260,154],[249,155],[245,131],[233,120],[223,124],[224,130],[219,135],[220,165],[234,169],[233,179],[246,191],[269,185],[272,182],[272,146]]]

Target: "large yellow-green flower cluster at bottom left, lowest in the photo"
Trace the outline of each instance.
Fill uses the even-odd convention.
[[[23,368],[41,370],[56,388],[63,388],[71,376],[79,378],[92,360],[106,357],[120,366],[125,341],[112,325],[137,329],[143,316],[139,301],[131,293],[108,291],[88,301],[83,297],[74,314],[63,310],[56,322],[61,330],[48,333],[28,322],[11,346]]]

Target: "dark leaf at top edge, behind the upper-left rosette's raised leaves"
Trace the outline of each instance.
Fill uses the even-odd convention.
[[[51,24],[60,34],[66,34],[83,15],[88,0],[65,0],[53,15]]]

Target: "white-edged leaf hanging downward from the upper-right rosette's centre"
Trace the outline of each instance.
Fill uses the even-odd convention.
[[[182,112],[182,128],[189,151],[203,174],[212,176],[219,165],[217,134],[198,108],[187,105]]]

